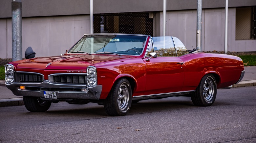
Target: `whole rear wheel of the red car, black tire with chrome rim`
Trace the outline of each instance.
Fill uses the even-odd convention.
[[[215,77],[212,74],[203,76],[191,100],[196,106],[211,106],[217,94]]]

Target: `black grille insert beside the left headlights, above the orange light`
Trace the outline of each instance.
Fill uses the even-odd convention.
[[[43,75],[34,73],[20,73],[20,82],[43,82]]]

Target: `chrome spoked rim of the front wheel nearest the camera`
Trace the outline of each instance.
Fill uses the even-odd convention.
[[[121,85],[118,89],[117,104],[119,109],[123,110],[127,107],[129,102],[129,91],[125,85]]]

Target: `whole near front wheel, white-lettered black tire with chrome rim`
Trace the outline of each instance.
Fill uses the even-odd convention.
[[[126,115],[132,104],[132,89],[129,81],[121,78],[115,82],[108,97],[103,101],[105,111],[110,116]]]

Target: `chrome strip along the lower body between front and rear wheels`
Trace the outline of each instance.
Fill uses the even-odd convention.
[[[196,90],[189,90],[189,91],[169,92],[169,93],[150,94],[150,95],[139,95],[139,96],[133,96],[132,100],[144,100],[144,99],[180,96],[180,95],[185,95],[185,94],[191,94],[195,91]]]

